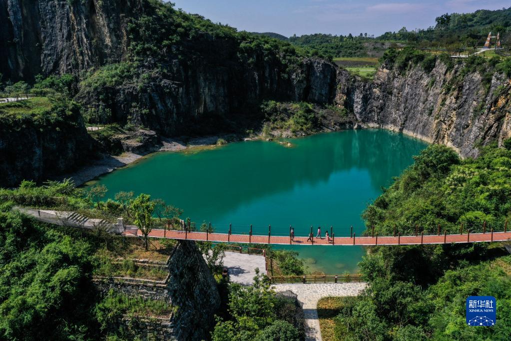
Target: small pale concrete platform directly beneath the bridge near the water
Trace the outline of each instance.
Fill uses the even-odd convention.
[[[229,268],[231,282],[250,285],[255,276],[255,268],[259,268],[260,274],[265,274],[265,260],[260,255],[247,255],[238,252],[225,252],[224,266]]]

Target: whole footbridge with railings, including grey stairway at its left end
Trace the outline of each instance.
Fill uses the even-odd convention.
[[[82,229],[97,229],[102,228],[111,234],[123,235],[126,237],[144,237],[144,233],[134,225],[124,225],[122,219],[119,217],[108,216],[104,218],[87,218],[76,212],[64,211],[50,211],[50,210],[33,210],[27,208],[18,208],[20,211],[41,221],[65,225]],[[113,218],[118,219],[117,222],[112,222]],[[108,220],[110,221],[108,221]],[[290,229],[291,230],[291,229]],[[477,242],[497,242],[511,240],[511,232],[507,231],[507,223],[503,226],[503,231],[494,231],[493,228],[486,229],[486,224],[482,227],[482,232],[471,233],[470,230],[463,230],[457,234],[447,234],[447,231],[441,231],[438,225],[436,233],[425,233],[419,231],[419,227],[415,227],[415,233],[412,235],[401,235],[396,232],[394,228],[393,235],[379,236],[375,233],[374,228],[369,235],[357,236],[353,233],[353,228],[350,231],[350,236],[335,236],[333,229],[330,229],[330,234],[327,237],[315,237],[312,233],[304,235],[294,235],[292,233],[272,234],[271,225],[268,226],[268,233],[261,234],[252,233],[252,228],[247,230],[246,233],[232,233],[229,226],[228,231],[217,232],[213,231],[210,226],[204,231],[192,231],[190,225],[186,225],[181,220],[180,230],[167,229],[165,225],[153,228],[149,233],[149,238],[165,238],[176,240],[191,240],[191,241],[211,241],[211,242],[224,242],[224,243],[249,243],[249,244],[280,244],[280,245],[315,245],[315,246],[339,246],[339,245],[419,245],[419,244],[450,244],[450,243],[477,243]]]

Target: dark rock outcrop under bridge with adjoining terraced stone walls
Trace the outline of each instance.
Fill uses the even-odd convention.
[[[146,262],[144,262],[146,263]],[[160,264],[154,262],[158,266]],[[166,262],[169,276],[164,281],[123,277],[96,277],[94,283],[103,293],[113,289],[145,299],[161,300],[178,307],[169,319],[123,316],[112,323],[110,331],[122,330],[125,337],[141,339],[206,339],[220,306],[217,284],[202,254],[193,241],[179,241]]]

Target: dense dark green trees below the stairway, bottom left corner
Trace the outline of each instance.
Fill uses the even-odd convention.
[[[97,338],[92,245],[0,212],[0,338]]]

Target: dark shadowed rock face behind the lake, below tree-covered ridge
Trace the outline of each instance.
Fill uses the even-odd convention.
[[[218,41],[203,44],[221,51]],[[255,54],[253,59],[264,57]],[[115,122],[142,124],[164,135],[235,130],[234,122],[245,120],[263,99],[332,103],[337,72],[333,64],[304,59],[291,77],[285,67],[276,60],[249,65],[228,55],[175,59],[165,73],[141,70],[142,76],[115,88],[82,87],[78,98],[89,107],[109,108]]]

